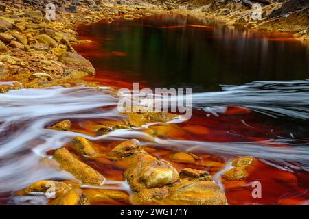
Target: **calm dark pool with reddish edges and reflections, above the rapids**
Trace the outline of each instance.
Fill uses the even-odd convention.
[[[190,24],[213,28],[185,26]],[[102,22],[80,27],[79,32],[98,40],[98,53],[111,54],[91,57],[100,70],[133,81],[136,77],[149,86],[190,87],[198,92],[218,90],[220,84],[309,78],[308,45],[290,34],[176,15]]]

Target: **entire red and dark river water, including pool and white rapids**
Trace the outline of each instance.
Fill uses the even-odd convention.
[[[70,139],[84,136],[102,153],[137,138],[148,153],[169,159],[175,151],[199,155],[196,164],[172,163],[208,170],[231,205],[308,205],[309,201],[309,49],[289,34],[247,31],[210,21],[157,15],[135,21],[81,26],[76,46],[98,74],[91,81],[116,88],[142,86],[193,88],[188,121],[164,127],[157,138],[143,129],[117,130],[103,136],[93,125],[124,120],[117,98],[100,89],[45,88],[12,90],[0,95],[0,203],[47,203],[41,196],[14,196],[16,190],[43,179],[73,179],[42,158]],[[60,120],[71,131],[48,129]],[[160,129],[161,130],[161,129]],[[249,155],[259,162],[245,181],[220,179],[222,166]],[[84,162],[107,178],[100,189],[130,193],[122,171],[111,164]],[[251,183],[262,183],[262,198],[251,196]],[[85,186],[85,185],[84,185]],[[128,204],[128,203],[97,203]]]

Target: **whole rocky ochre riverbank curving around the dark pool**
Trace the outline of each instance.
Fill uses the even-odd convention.
[[[45,6],[56,4],[55,21],[49,21]],[[252,18],[253,3],[262,5],[260,19]],[[229,25],[253,29],[290,31],[308,40],[308,1],[31,1],[0,3],[0,79],[16,81],[0,86],[0,92],[19,88],[71,86],[94,75],[91,63],[72,45],[91,43],[77,40],[78,23],[116,18],[128,20],[150,12],[190,14],[213,18]],[[94,86],[92,84],[92,86]]]

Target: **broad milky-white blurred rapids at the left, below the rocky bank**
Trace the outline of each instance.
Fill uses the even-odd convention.
[[[21,189],[34,181],[73,179],[41,165],[46,152],[60,148],[73,132],[45,129],[67,118],[117,118],[117,99],[94,88],[45,88],[12,90],[0,96],[0,192]]]

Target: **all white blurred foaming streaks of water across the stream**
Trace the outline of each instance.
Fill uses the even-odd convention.
[[[194,107],[216,114],[228,105],[249,107],[271,116],[309,118],[309,81],[255,82],[244,86],[225,86],[222,92],[192,95]],[[76,118],[115,119],[118,99],[97,88],[44,88],[12,90],[0,95],[0,192],[19,190],[43,179],[72,179],[67,172],[41,165],[47,151],[58,149],[74,136],[89,140],[126,140],[137,138],[149,144],[175,151],[205,152],[216,155],[250,155],[289,170],[309,171],[309,144],[293,144],[292,139],[273,140],[286,147],[272,147],[258,142],[202,142],[153,138],[147,133],[116,130],[91,137],[71,131],[54,131],[46,126],[60,120]],[[271,144],[271,142],[268,142]],[[293,163],[293,164],[292,164]],[[108,184],[108,183],[107,183]],[[114,188],[113,183],[106,188]],[[126,182],[117,182],[128,191]],[[15,200],[16,203],[22,201]],[[43,203],[44,200],[32,200]],[[31,202],[31,200],[30,200]]]

